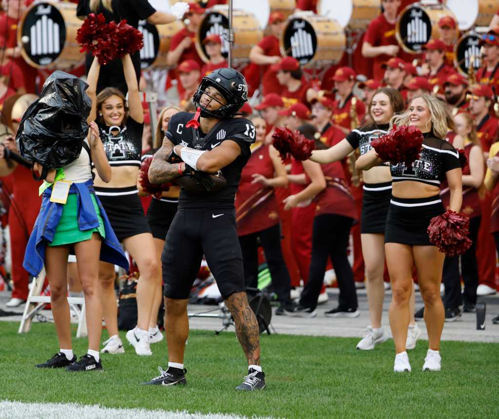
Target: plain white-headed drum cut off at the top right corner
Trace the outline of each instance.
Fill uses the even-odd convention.
[[[489,26],[499,8],[499,0],[447,0],[445,4],[456,15],[459,30]]]

